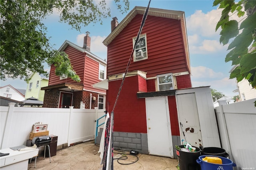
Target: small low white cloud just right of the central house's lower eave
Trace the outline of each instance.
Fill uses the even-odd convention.
[[[192,77],[195,79],[223,77],[223,73],[215,72],[212,69],[204,66],[191,67],[191,73]]]

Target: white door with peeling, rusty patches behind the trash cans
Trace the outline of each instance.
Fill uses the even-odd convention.
[[[202,144],[202,135],[195,93],[177,95],[177,105],[181,140],[199,147]]]

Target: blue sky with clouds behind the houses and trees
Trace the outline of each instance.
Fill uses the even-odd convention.
[[[113,1],[106,0],[106,2],[111,9],[111,17],[104,19],[102,25],[90,24],[82,27],[81,32],[72,30],[66,23],[58,22],[58,14],[54,13],[46,18],[43,22],[48,27],[47,36],[51,37],[50,43],[56,49],[59,49],[65,40],[83,46],[83,38],[85,32],[88,31],[91,37],[91,52],[106,59],[107,48],[102,42],[110,34],[112,18],[117,17],[120,23],[134,6],[146,7],[148,0],[131,0],[130,10],[123,15],[116,9]],[[220,30],[215,32],[221,10],[217,10],[217,7],[213,7],[212,4],[212,0],[152,0],[150,7],[185,12],[192,87],[211,86],[212,89],[216,89],[226,96],[235,96],[238,93],[232,91],[236,89],[236,81],[229,79],[231,62],[225,63],[228,45],[220,44]],[[232,17],[239,20],[236,15]],[[49,67],[46,69],[49,70]],[[27,87],[26,82],[20,79],[1,80],[0,83],[1,86],[10,84],[17,89],[26,89]]]

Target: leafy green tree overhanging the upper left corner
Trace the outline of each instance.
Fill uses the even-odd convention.
[[[129,10],[128,0],[114,0],[120,12]],[[6,76],[28,80],[30,72],[46,75],[43,63],[56,66],[56,75],[66,74],[80,81],[66,53],[52,47],[42,19],[58,10],[60,22],[80,31],[90,23],[102,23],[110,16],[105,0],[1,0],[0,1],[0,79]]]

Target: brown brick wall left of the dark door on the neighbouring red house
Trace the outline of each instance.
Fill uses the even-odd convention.
[[[58,108],[60,98],[60,91],[58,89],[46,90],[44,92],[43,107]]]

